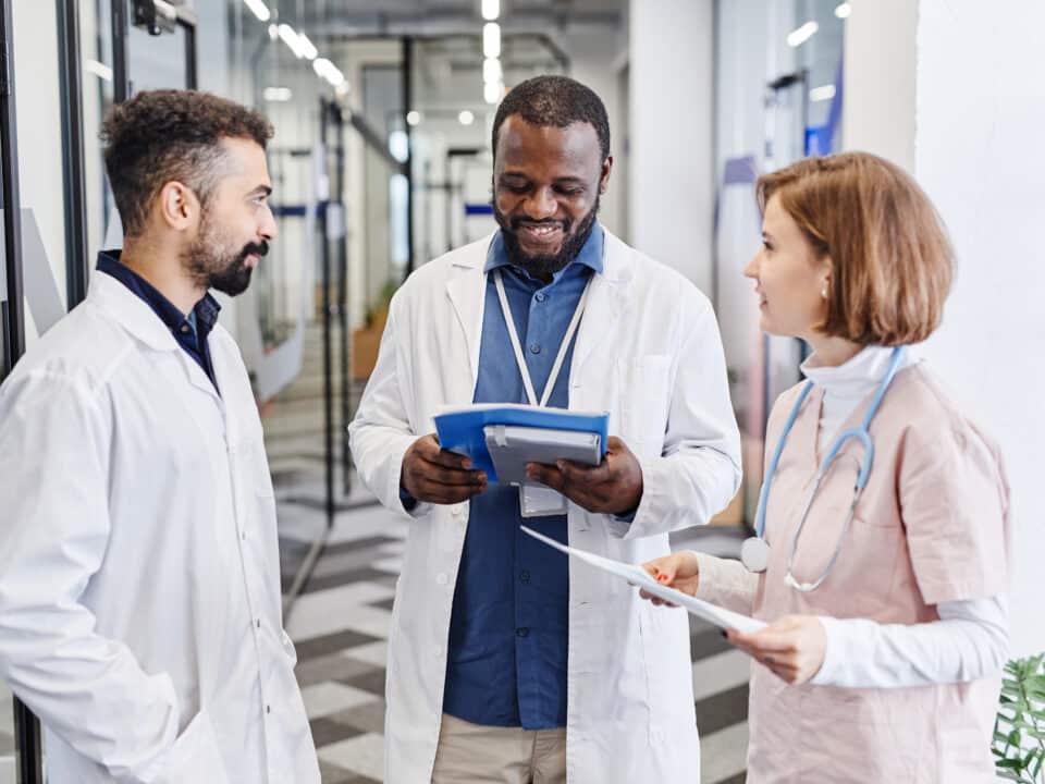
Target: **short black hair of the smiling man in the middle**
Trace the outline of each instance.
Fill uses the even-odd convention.
[[[610,157],[610,119],[602,99],[568,76],[534,76],[521,82],[505,96],[493,119],[492,150],[497,155],[497,135],[504,121],[518,114],[539,127],[566,127],[589,123],[599,136],[602,160]]]

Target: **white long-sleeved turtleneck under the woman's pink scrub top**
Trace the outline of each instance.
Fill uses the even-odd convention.
[[[877,389],[892,355],[892,348],[868,346],[837,367],[820,365],[815,354],[802,364],[802,372],[824,391],[817,433],[822,454],[843,422]],[[914,362],[908,352],[900,368]],[[697,556],[701,575],[697,596],[750,611],[757,575],[738,562],[705,553]],[[941,602],[936,611],[939,621],[913,625],[821,616],[827,648],[811,683],[848,688],[925,686],[973,681],[1005,664],[1009,630],[1004,596]]]

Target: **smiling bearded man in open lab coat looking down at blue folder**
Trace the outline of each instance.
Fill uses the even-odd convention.
[[[441,451],[433,417],[542,399],[610,412],[600,466],[529,467],[568,503],[527,523],[632,563],[666,553],[668,531],[706,523],[739,485],[714,314],[599,224],[613,159],[590,89],[561,76],[516,86],[492,143],[500,230],[399,290],[351,428],[364,481],[413,517],[385,780],[698,781],[686,614],[652,612],[521,534],[518,490]]]

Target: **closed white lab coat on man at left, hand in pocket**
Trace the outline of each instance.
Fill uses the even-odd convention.
[[[275,501],[239,352],[221,396],[103,273],[0,388],[0,674],[51,784],[311,784]]]

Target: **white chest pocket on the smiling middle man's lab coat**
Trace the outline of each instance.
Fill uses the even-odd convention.
[[[620,438],[640,456],[660,456],[667,429],[672,358],[651,354],[619,359]]]

